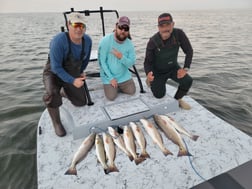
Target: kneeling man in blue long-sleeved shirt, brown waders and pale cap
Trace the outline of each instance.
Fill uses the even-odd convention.
[[[67,97],[75,106],[84,106],[87,101],[83,71],[90,58],[92,41],[85,34],[84,16],[76,12],[70,13],[68,30],[69,32],[61,32],[52,39],[50,55],[43,72],[46,90],[43,101],[58,136],[66,135],[59,113],[62,96]]]

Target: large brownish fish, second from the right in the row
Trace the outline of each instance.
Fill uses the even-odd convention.
[[[179,152],[178,156],[191,156],[187,151],[180,134],[177,130],[170,124],[169,118],[164,115],[154,115],[154,120],[160,129],[165,133],[167,138],[169,138],[174,144],[178,145]]]

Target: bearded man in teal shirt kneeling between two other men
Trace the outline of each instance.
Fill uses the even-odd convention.
[[[135,64],[136,54],[130,40],[130,20],[119,18],[113,33],[102,38],[99,44],[98,61],[105,96],[114,100],[118,91],[133,95],[135,83],[129,68]]]

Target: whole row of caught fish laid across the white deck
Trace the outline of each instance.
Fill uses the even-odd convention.
[[[174,144],[178,145],[178,156],[191,156],[186,149],[180,134],[184,134],[194,141],[196,141],[199,136],[191,134],[167,115],[154,115],[153,118],[166,137]],[[140,119],[140,122],[152,141],[161,149],[163,154],[165,156],[173,155],[173,153],[165,147],[162,135],[154,124],[147,119]],[[136,153],[135,140],[141,150],[139,155]],[[130,161],[134,160],[136,165],[140,164],[147,158],[150,158],[150,155],[146,151],[146,140],[141,127],[134,122],[130,122],[129,126],[126,125],[123,127],[122,135],[120,135],[113,127],[108,127],[108,133],[91,133],[85,138],[77,152],[74,154],[70,168],[65,174],[77,175],[76,165],[87,156],[94,144],[97,159],[101,163],[106,174],[119,171],[114,162],[116,156],[116,148],[114,144],[116,144],[116,146],[128,156]]]

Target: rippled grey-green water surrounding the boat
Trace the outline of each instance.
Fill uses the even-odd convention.
[[[122,14],[131,18],[136,67],[144,76],[146,43],[157,31],[160,12]],[[252,11],[172,14],[175,26],[186,32],[194,49],[190,95],[252,136]],[[107,16],[110,32],[115,17]],[[49,41],[64,25],[64,18],[61,13],[0,14],[0,24],[0,188],[35,189],[36,131],[44,110],[42,69]],[[99,16],[90,17],[87,25],[96,49],[102,35]]]

